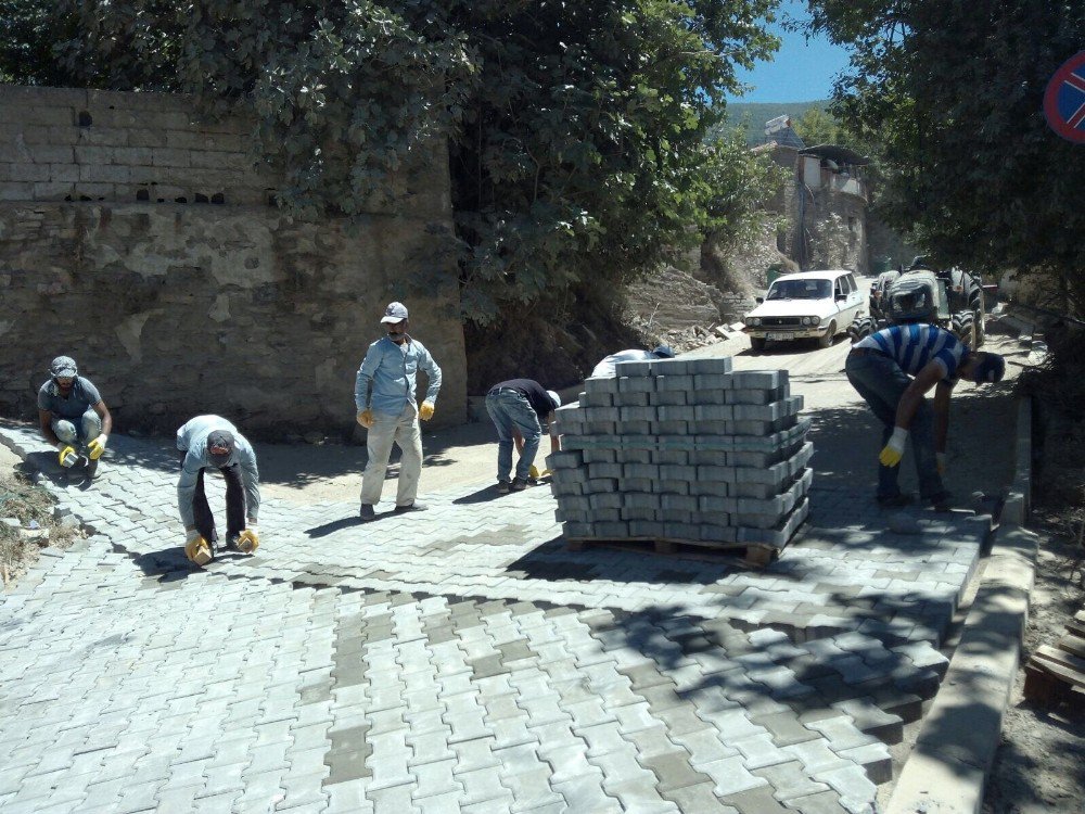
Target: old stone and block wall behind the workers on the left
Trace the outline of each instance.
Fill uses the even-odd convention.
[[[218,412],[256,436],[347,435],[358,365],[403,300],[444,372],[434,425],[465,420],[443,151],[383,209],[302,221],[268,205],[248,125],[189,105],[0,88],[0,415],[36,416],[49,360],[67,354],[120,429]]]

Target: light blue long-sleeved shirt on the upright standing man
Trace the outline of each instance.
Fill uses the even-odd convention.
[[[421,342],[409,336],[397,345],[382,336],[369,346],[354,383],[354,403],[358,410],[398,416],[408,404],[414,404],[416,376],[419,368],[430,377],[426,402],[436,404],[441,390],[441,368]]]

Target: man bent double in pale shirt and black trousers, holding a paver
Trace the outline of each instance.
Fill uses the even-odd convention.
[[[260,544],[256,529],[260,475],[252,444],[225,418],[196,416],[177,431],[177,450],[181,458],[177,508],[184,523],[184,556],[205,565],[222,550],[204,492],[208,467],[226,479],[226,548],[253,554]]]

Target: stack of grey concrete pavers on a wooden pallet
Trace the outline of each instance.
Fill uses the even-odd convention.
[[[625,361],[558,409],[548,459],[569,540],[783,548],[809,512],[814,453],[786,370]]]

